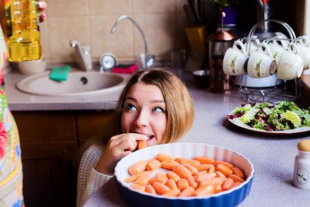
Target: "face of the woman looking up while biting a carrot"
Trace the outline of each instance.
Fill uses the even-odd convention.
[[[147,135],[147,146],[161,144],[167,123],[165,111],[163,94],[157,86],[135,83],[125,97],[122,131]]]

